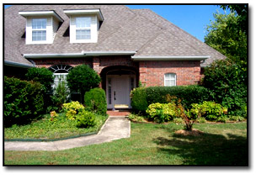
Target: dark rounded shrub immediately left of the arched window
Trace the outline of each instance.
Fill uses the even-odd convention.
[[[51,91],[54,76],[53,72],[47,68],[29,68],[26,77],[28,81],[40,82],[44,86],[45,92]]]

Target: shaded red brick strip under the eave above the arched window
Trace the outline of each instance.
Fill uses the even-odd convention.
[[[37,67],[46,67],[56,65],[68,65],[68,66],[78,66],[78,65],[88,65],[93,66],[92,58],[51,58],[51,59],[33,59],[35,61],[35,66]]]

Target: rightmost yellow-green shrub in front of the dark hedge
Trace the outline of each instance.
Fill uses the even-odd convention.
[[[195,118],[205,117],[207,120],[216,120],[219,117],[224,116],[227,113],[227,108],[224,108],[219,103],[215,102],[203,102],[203,103],[193,103],[190,113],[195,116]]]

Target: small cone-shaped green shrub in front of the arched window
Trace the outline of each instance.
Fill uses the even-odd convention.
[[[66,82],[59,82],[58,86],[55,89],[53,96],[51,97],[52,102],[58,108],[58,111],[61,110],[63,103],[67,103],[69,91],[66,86]]]

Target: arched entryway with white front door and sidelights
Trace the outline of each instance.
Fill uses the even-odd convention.
[[[137,86],[137,74],[129,66],[109,66],[101,71],[108,109],[131,108],[130,93]]]

